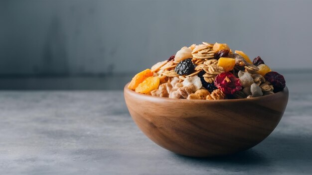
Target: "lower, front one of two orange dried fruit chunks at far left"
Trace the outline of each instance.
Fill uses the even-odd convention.
[[[149,77],[139,84],[139,86],[136,88],[136,92],[148,94],[152,90],[157,89],[158,86],[159,86],[159,78]]]

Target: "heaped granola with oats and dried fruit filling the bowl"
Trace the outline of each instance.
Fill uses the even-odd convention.
[[[235,99],[283,90],[285,79],[258,56],[253,62],[227,44],[182,47],[168,60],[138,73],[128,88],[153,96],[182,99]]]

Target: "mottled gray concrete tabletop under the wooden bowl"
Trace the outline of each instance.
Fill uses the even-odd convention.
[[[254,148],[196,159],[149,140],[122,91],[0,91],[0,174],[311,175],[312,93],[290,90],[284,117]]]

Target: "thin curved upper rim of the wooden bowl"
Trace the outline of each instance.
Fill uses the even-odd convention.
[[[281,97],[283,95],[288,95],[289,94],[289,90],[288,87],[285,86],[285,88],[282,91],[279,91],[277,93],[274,94],[270,94],[270,95],[264,95],[264,96],[258,96],[258,97],[253,97],[253,98],[241,98],[241,99],[217,99],[217,100],[203,100],[203,99],[181,99],[181,98],[168,98],[168,97],[160,97],[160,96],[153,96],[153,95],[148,95],[148,94],[144,94],[144,93],[139,93],[136,92],[134,90],[131,90],[128,88],[128,85],[130,84],[127,83],[124,87],[124,94],[125,93],[129,93],[131,96],[136,96],[139,98],[145,98],[145,99],[150,99],[150,100],[165,100],[165,101],[175,101],[175,102],[196,102],[196,103],[215,103],[215,102],[253,102],[253,101],[258,101],[258,100],[270,100],[270,99],[275,99],[278,97]]]

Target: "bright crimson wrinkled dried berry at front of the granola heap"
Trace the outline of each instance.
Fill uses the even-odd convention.
[[[222,90],[225,94],[233,94],[242,89],[242,85],[233,74],[230,72],[223,72],[217,75],[214,85]]]

